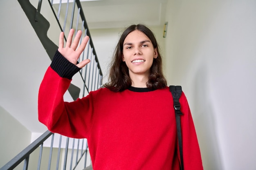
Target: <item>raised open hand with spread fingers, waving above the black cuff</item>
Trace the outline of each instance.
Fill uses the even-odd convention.
[[[59,38],[58,51],[68,61],[70,61],[71,63],[75,64],[77,67],[82,68],[86,64],[88,64],[90,62],[90,60],[89,59],[85,59],[85,60],[81,61],[79,64],[77,64],[77,60],[79,59],[81,53],[85,49],[85,46],[86,46],[86,44],[87,44],[87,42],[89,40],[89,37],[85,36],[85,38],[83,39],[82,43],[77,48],[77,46],[79,44],[79,41],[80,41],[80,38],[81,38],[81,35],[82,35],[82,31],[81,30],[77,31],[76,37],[74,38],[74,41],[72,42],[73,35],[74,35],[74,29],[70,29],[70,32],[69,32],[68,37],[67,37],[66,46],[64,47],[64,33],[61,32],[60,38]]]

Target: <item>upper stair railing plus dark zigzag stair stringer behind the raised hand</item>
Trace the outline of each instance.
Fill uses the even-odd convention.
[[[42,7],[43,1],[42,0],[38,1],[37,9],[29,2],[29,0],[18,0],[18,2],[20,3],[23,11],[27,15],[29,22],[33,26],[48,56],[52,60],[56,52],[56,49],[58,49],[58,46],[54,44],[54,42],[52,42],[52,40],[50,40],[47,36],[47,31],[50,27],[50,24],[46,20],[46,18],[40,13],[40,11],[42,10],[41,7]],[[79,88],[74,84],[71,84],[70,88],[68,89],[72,98],[76,100],[79,97],[80,89],[83,89],[83,93],[82,93],[82,97],[83,97],[85,96],[86,92],[89,93],[90,91],[96,90],[99,87],[101,87],[103,74],[102,74],[99,60],[94,48],[94,44],[92,42],[88,24],[85,20],[81,2],[79,0],[75,0],[74,2],[69,2],[69,0],[67,0],[67,3],[59,3],[59,5],[53,4],[53,0],[51,1],[48,0],[48,2],[49,2],[50,8],[52,9],[52,18],[54,17],[56,18],[56,22],[58,23],[58,26],[59,26],[59,31],[58,33],[56,33],[57,35],[59,35],[60,31],[63,31],[65,35],[67,35],[69,32],[69,29],[73,28],[76,31],[80,29],[83,32],[81,41],[85,37],[85,35],[88,35],[90,37],[88,44],[85,47],[85,50],[83,51],[79,59],[79,61],[84,59],[91,60],[89,64],[87,64],[84,68],[82,68],[79,71],[83,81],[83,87]],[[70,6],[72,6],[72,8],[70,8]],[[65,8],[64,9],[65,14],[62,13],[63,8]],[[68,14],[70,14],[70,16]],[[63,15],[65,16],[62,17]],[[76,21],[75,26],[74,26],[74,21]],[[64,35],[64,39],[66,40],[65,35]]]

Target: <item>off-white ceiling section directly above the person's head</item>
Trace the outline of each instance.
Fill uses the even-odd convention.
[[[54,2],[55,9],[58,9],[59,0],[54,0]],[[123,28],[134,23],[149,26],[163,25],[166,3],[167,0],[81,0],[90,29]],[[63,16],[65,9],[66,4],[62,4]]]

